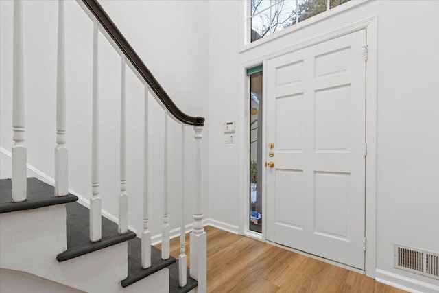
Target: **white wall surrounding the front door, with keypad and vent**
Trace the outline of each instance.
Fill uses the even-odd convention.
[[[434,279],[395,270],[392,247],[439,251],[439,1],[368,1],[240,53],[241,5],[211,1],[209,6],[209,151],[215,154],[209,156],[210,217],[239,226],[239,204],[247,196],[247,171],[239,167],[246,159],[248,99],[241,66],[377,16],[377,268],[389,273],[381,278],[400,285],[407,277],[438,286]],[[222,141],[224,121],[237,121],[233,145]],[[218,178],[222,184],[215,184]]]

